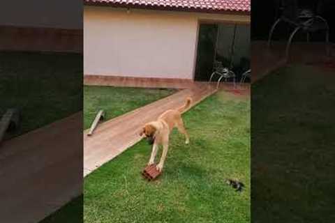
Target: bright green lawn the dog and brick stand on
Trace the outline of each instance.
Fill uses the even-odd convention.
[[[84,180],[84,222],[250,222],[250,102],[216,93],[184,114],[191,144],[174,131],[163,175],[140,174],[140,141]],[[159,155],[159,153],[158,153]],[[246,185],[235,192],[225,178]]]

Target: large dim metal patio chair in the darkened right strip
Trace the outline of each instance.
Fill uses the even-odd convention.
[[[274,33],[274,29],[279,22],[285,22],[286,24],[295,27],[294,31],[290,33],[290,38],[285,49],[285,59],[288,60],[290,45],[292,39],[298,31],[304,31],[307,34],[307,41],[311,33],[316,31],[326,31],[325,43],[327,48],[327,55],[329,55],[329,25],[327,20],[318,15],[320,11],[320,0],[315,1],[316,3],[309,8],[299,8],[297,0],[279,0],[277,1],[277,10],[281,11],[281,16],[278,17],[276,22],[271,26],[269,32],[268,46],[271,46],[271,38]],[[278,14],[278,11],[277,13]]]

